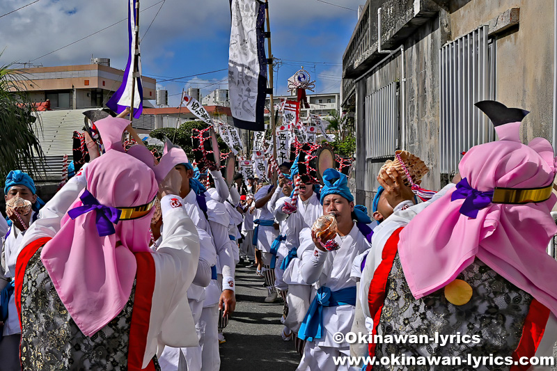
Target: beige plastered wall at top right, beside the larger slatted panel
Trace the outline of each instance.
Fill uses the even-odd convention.
[[[522,141],[551,141],[554,1],[470,1],[450,15],[451,32],[457,38],[511,8],[520,8],[520,22],[495,39],[496,100],[531,112],[521,127]]]

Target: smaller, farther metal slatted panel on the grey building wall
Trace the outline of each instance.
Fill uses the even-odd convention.
[[[366,97],[366,158],[392,156],[398,148],[398,82]]]

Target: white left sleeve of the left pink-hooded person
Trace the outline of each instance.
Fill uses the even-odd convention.
[[[83,170],[79,171],[83,173]],[[19,244],[19,249],[31,244],[42,237],[54,237],[60,230],[60,222],[62,217],[79,196],[82,189],[86,187],[87,181],[84,175],[76,175],[72,177],[60,189],[54,197],[43,206],[38,215],[38,219],[29,226],[25,232],[24,239]]]

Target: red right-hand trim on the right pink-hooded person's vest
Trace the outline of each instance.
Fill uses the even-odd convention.
[[[549,313],[549,309],[542,303],[536,299],[532,299],[528,315],[526,315],[526,320],[524,321],[524,327],[522,328],[522,336],[519,345],[515,352],[512,353],[513,361],[519,361],[521,357],[531,358],[535,355],[544,336]],[[513,365],[510,371],[528,370],[530,366],[530,364]]]

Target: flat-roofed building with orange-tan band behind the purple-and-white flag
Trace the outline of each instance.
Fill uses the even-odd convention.
[[[33,102],[50,100],[51,109],[102,107],[124,77],[124,71],[111,68],[107,58],[94,58],[88,65],[24,68],[21,72],[18,84],[26,88]],[[141,77],[141,81],[144,105],[152,106],[148,100],[155,100],[157,81],[150,77]]]

